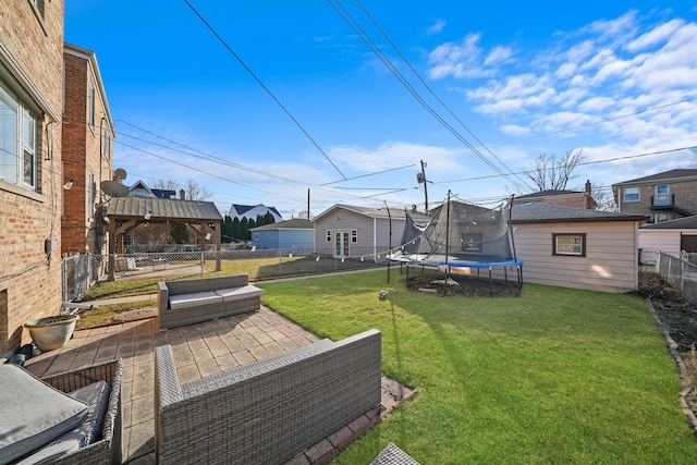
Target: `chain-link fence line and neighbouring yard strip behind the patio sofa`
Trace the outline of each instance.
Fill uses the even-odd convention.
[[[155,294],[157,282],[217,274],[253,281],[387,266],[384,258],[298,255],[279,249],[73,255],[62,260],[63,302]]]

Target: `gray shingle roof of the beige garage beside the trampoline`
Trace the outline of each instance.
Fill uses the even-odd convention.
[[[553,223],[579,221],[644,221],[645,216],[614,213],[585,208],[560,207],[547,204],[524,204],[511,209],[513,223]]]

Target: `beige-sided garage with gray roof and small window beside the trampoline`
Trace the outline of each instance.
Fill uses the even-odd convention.
[[[511,210],[524,282],[606,292],[638,286],[641,216],[527,204]]]

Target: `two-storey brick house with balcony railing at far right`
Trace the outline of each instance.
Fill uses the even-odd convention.
[[[621,213],[660,223],[697,215],[697,170],[680,169],[613,184]]]

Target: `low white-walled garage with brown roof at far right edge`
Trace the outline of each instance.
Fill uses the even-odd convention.
[[[697,217],[680,218],[639,228],[640,261],[656,262],[656,252],[680,257],[681,250],[697,252]]]

